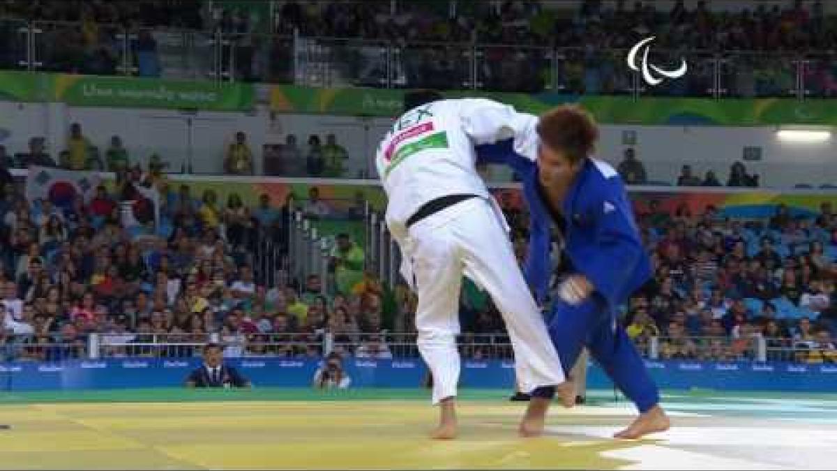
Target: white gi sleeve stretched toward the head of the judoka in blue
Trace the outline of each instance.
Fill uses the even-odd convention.
[[[485,98],[460,100],[462,128],[475,145],[513,139],[515,153],[537,158],[537,116]]]

